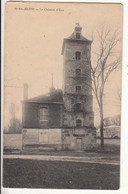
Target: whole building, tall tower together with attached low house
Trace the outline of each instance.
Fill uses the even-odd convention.
[[[87,150],[96,144],[91,89],[91,44],[76,25],[62,46],[63,88],[23,101],[23,144]],[[26,87],[26,86],[25,86]],[[26,95],[25,95],[26,96]]]

